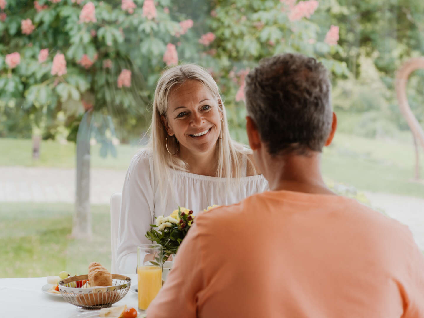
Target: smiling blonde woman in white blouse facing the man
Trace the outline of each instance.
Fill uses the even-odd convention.
[[[132,159],[124,181],[117,268],[133,273],[137,245],[159,215],[177,206],[196,212],[239,202],[268,189],[251,151],[234,142],[218,86],[195,64],[166,70],[153,100],[150,142]]]

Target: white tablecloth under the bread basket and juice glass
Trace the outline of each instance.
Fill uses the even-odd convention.
[[[137,274],[126,276],[131,278],[131,286],[137,285]],[[41,287],[45,284],[45,277],[0,279],[0,317],[70,318],[80,313],[75,305],[62,297],[43,293]],[[126,296],[113,306],[122,305],[138,310],[137,294],[129,290]]]

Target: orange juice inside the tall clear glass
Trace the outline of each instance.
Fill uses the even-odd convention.
[[[162,268],[158,266],[140,266],[138,275],[138,308],[146,310],[162,287]]]

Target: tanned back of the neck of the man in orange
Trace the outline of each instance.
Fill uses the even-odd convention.
[[[268,158],[266,178],[271,190],[289,190],[316,194],[334,194],[321,175],[321,153],[308,156],[285,155]]]

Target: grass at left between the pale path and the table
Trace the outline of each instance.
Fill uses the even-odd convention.
[[[0,204],[0,278],[85,274],[90,262],[111,266],[108,205],[92,205],[92,240],[68,237],[73,204]]]

